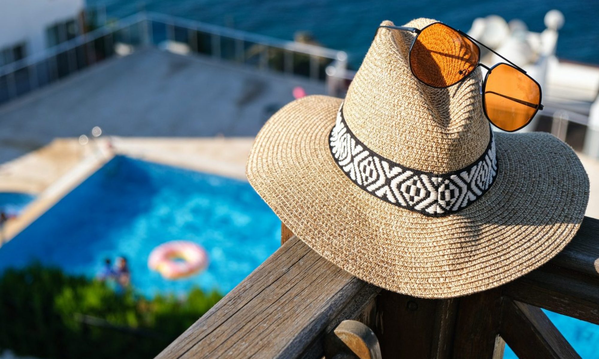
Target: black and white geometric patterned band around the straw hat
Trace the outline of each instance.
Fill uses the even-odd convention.
[[[349,129],[343,104],[329,137],[335,163],[362,190],[392,205],[429,217],[461,211],[491,188],[497,178],[495,138],[471,165],[445,174],[432,174],[402,166],[374,153]]]

